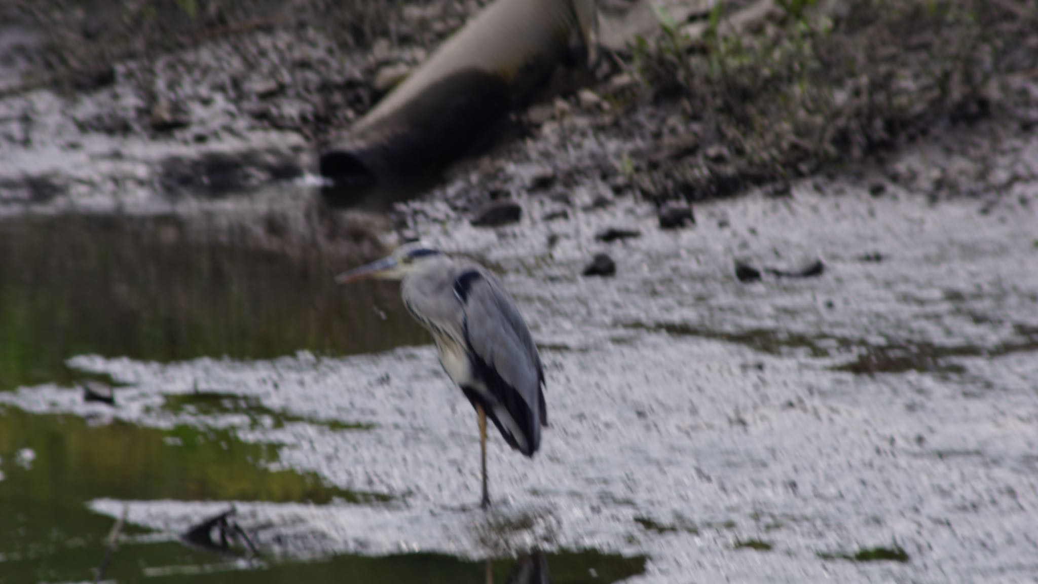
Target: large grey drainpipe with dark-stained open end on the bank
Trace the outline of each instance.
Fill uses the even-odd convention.
[[[591,0],[497,0],[320,157],[333,206],[384,207],[435,180],[551,77],[594,55]],[[420,185],[420,186],[419,186]]]

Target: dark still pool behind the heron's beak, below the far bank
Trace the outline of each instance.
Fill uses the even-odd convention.
[[[0,391],[70,381],[64,361],[80,353],[270,359],[428,342],[400,318],[392,285],[346,292],[334,285],[351,259],[294,259],[224,241],[216,227],[211,238],[197,237],[197,222],[175,215],[0,220]]]

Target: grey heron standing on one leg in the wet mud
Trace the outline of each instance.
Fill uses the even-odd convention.
[[[404,306],[432,334],[443,370],[475,408],[487,508],[487,418],[509,446],[530,458],[547,426],[544,368],[526,322],[494,274],[437,249],[404,246],[335,280],[366,277],[403,280]]]

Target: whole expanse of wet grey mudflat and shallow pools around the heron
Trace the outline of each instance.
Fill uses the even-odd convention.
[[[551,248],[538,224],[427,234],[501,270],[547,369],[543,450],[491,440],[489,513],[471,407],[393,287],[94,219],[0,228],[22,274],[0,281],[0,579],[90,578],[124,513],[119,581],[482,582],[488,557],[503,581],[535,549],[554,582],[1038,575],[1034,210],[798,187],[676,233],[633,202],[574,213]],[[644,235],[595,242],[610,225]],[[576,275],[602,248],[618,275]],[[816,278],[732,267],[817,257]],[[231,504],[265,567],[177,542]]]

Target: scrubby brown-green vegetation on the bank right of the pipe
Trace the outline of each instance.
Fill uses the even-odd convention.
[[[784,0],[740,25],[721,2],[694,34],[663,17],[658,38],[633,46],[656,99],[704,138],[698,154],[641,168],[644,192],[727,194],[862,157],[940,120],[982,117],[992,83],[1026,69],[1009,55],[1038,25],[1038,10],[1020,17],[983,0],[815,4]]]

